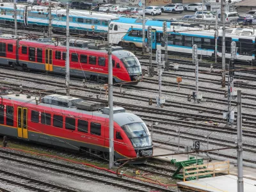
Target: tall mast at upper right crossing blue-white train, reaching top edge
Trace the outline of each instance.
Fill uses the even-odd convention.
[[[222,70],[223,70],[223,72],[222,72],[221,86],[225,87],[226,86],[226,79],[225,79],[225,70],[226,70],[225,0],[221,0],[221,15],[222,15],[222,22],[223,22],[223,26],[222,26]]]

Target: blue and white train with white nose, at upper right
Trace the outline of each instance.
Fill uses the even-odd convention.
[[[133,21],[132,21],[133,20]],[[147,20],[147,27],[152,26],[152,48],[163,49],[163,22]],[[109,27],[110,42],[118,45],[128,45],[129,47],[142,47],[142,20],[120,18],[113,20]],[[127,33],[125,33],[127,32]],[[167,22],[168,51],[180,52],[182,54],[192,54],[193,44],[198,45],[198,54],[202,56],[214,56],[215,38],[214,30],[202,28],[189,28],[172,26]],[[222,51],[222,30],[218,31],[218,56],[221,57]],[[255,61],[255,34],[252,29],[227,29],[226,34],[226,57],[230,58],[231,42],[236,42],[237,60]]]

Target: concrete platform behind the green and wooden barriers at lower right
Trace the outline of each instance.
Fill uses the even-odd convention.
[[[154,149],[154,156],[160,155],[160,154],[172,154],[175,152],[177,152],[177,151],[172,150],[171,148],[167,149],[167,148],[159,147],[159,148]],[[191,155],[189,155],[189,157],[195,157],[195,155],[191,154]],[[203,158],[203,157],[198,156],[198,158]],[[156,157],[156,159],[170,163],[170,161],[172,159],[176,159],[177,161],[186,161],[186,160],[188,160],[188,155],[164,156],[164,157]],[[225,160],[223,160],[223,161],[225,161]],[[217,161],[213,160],[212,163],[214,163],[214,162],[217,162]],[[205,160],[205,163],[207,163],[206,160]],[[230,175],[235,175],[235,176],[237,175],[236,164],[230,163]],[[246,179],[256,180],[256,168],[244,166],[243,167],[243,175],[244,175],[244,178],[246,178]],[[244,192],[247,192],[247,191],[244,191]],[[256,189],[254,192],[256,192]]]

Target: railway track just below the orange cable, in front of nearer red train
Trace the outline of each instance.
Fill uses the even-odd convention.
[[[128,189],[130,191],[172,191],[171,189],[161,188],[159,186],[148,184],[146,182],[138,182],[132,179],[124,179],[116,177],[116,175],[106,174],[98,171],[77,168],[67,164],[61,164],[52,162],[45,159],[39,159],[36,157],[25,156],[22,154],[16,154],[7,150],[0,150],[0,158],[8,161],[15,161],[20,164],[26,164],[36,168],[42,168],[44,170],[51,170],[56,173],[63,173],[65,175],[71,175],[73,177],[79,177],[81,179],[93,180],[96,182],[109,184],[118,188]],[[1,180],[1,175],[0,175]],[[66,189],[65,189],[66,190]]]

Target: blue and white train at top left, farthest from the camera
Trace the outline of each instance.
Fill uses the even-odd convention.
[[[10,25],[14,22],[12,3],[3,3],[0,6],[0,24]],[[61,8],[52,8],[52,30],[66,31],[67,11]],[[45,6],[31,6],[17,4],[17,22],[19,26],[42,28],[49,25],[48,10]],[[108,32],[109,20],[116,20],[115,14],[89,12],[82,10],[69,11],[70,33],[92,34]]]

